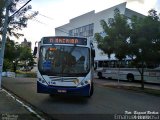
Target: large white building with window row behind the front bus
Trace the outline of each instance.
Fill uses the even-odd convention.
[[[144,16],[126,8],[125,2],[98,13],[95,13],[93,10],[81,16],[75,17],[71,19],[69,23],[55,28],[55,35],[87,37],[88,39],[93,40],[96,51],[95,60],[108,59],[107,55],[104,55],[104,53],[97,48],[97,43],[94,40],[94,34],[100,33],[102,36],[105,35],[100,25],[100,20],[103,19],[106,22],[111,22],[111,20],[114,18],[114,15],[117,13],[125,15],[128,19],[130,19],[133,15],[136,15],[137,17]],[[111,59],[112,58],[114,58],[114,55],[111,56]]]

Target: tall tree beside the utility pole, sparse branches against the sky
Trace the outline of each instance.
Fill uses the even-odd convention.
[[[16,46],[14,41],[10,41],[10,37],[14,36],[19,38],[23,36],[19,31],[22,28],[27,26],[27,21],[32,19],[34,16],[38,14],[38,12],[32,12],[28,14],[28,11],[32,8],[31,5],[25,5],[21,10],[17,9],[19,2],[25,2],[26,0],[10,0],[9,6],[6,8],[5,4],[8,0],[0,0],[0,37],[2,36],[3,24],[5,19],[5,9],[9,9],[9,21],[7,27],[7,47],[5,50],[5,60],[4,60],[4,70],[10,69],[14,67],[14,71],[16,70],[16,66],[18,64],[19,58],[17,55],[21,51],[19,50],[19,45]],[[17,12],[18,10],[18,12]],[[31,54],[31,53],[30,53]],[[32,59],[31,59],[32,60]]]

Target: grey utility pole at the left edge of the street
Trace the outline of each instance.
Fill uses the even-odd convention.
[[[3,26],[3,34],[2,34],[2,45],[1,45],[1,52],[0,52],[0,90],[1,90],[1,83],[2,83],[2,72],[3,72],[3,59],[4,59],[4,50],[5,50],[5,44],[6,44],[6,34],[7,34],[7,27],[8,27],[8,18],[9,18],[9,4],[10,0],[7,0],[5,3],[6,7],[6,15],[5,15],[5,21]]]

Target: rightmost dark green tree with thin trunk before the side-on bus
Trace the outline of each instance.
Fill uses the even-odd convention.
[[[160,60],[160,21],[155,10],[150,10],[144,18],[131,20],[130,54],[135,56],[136,67],[141,75],[141,87],[144,89],[146,67],[154,67]]]

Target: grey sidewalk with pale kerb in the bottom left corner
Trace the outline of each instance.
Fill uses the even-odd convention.
[[[0,90],[0,120],[40,120],[32,111],[4,89]]]

